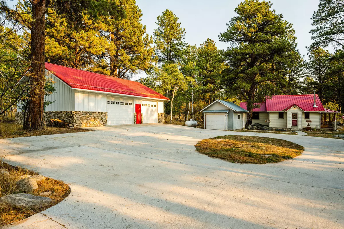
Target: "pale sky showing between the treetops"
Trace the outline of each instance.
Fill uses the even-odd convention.
[[[270,0],[272,8],[293,24],[298,49],[307,59],[307,48],[311,41],[311,16],[318,9],[319,0]],[[8,1],[9,4],[17,2]],[[166,9],[179,17],[186,30],[185,42],[199,46],[207,38],[213,39],[218,48],[226,49],[227,44],[218,41],[218,35],[227,28],[226,23],[235,16],[234,9],[241,0],[137,0],[142,10],[142,23],[147,33],[153,35],[157,17]],[[332,51],[332,49],[330,50]],[[141,77],[144,73],[140,74]],[[135,77],[138,78],[138,77]]]

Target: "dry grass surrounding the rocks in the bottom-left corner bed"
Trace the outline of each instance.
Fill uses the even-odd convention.
[[[22,175],[37,174],[30,170],[13,167],[4,162],[1,162],[0,168],[8,169],[10,173],[10,176],[0,174],[0,197],[9,195],[9,194],[21,193],[15,187],[15,183],[21,179]],[[61,202],[64,198],[66,198],[69,195],[71,191],[69,189],[69,186],[63,183],[62,181],[57,181],[57,180],[46,177],[44,182],[40,183],[38,185],[38,188],[34,192],[29,193],[29,194],[38,196],[42,192],[53,193],[52,195],[49,196],[53,200],[50,205],[44,206],[39,209],[34,209],[34,210],[25,209],[25,208],[14,208],[14,207],[6,208],[6,209],[0,208],[0,227],[25,219],[29,216],[32,216],[40,211],[43,211]]]

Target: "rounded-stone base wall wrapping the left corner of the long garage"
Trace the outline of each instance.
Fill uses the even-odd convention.
[[[15,113],[15,122],[23,124],[22,112]],[[44,123],[49,123],[50,119],[60,119],[69,123],[70,127],[92,127],[106,126],[107,112],[90,111],[46,111],[44,112]]]

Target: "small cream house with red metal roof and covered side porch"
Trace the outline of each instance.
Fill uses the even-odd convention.
[[[240,103],[240,107],[247,109],[247,103]],[[252,124],[271,128],[333,128],[335,115],[331,114],[336,113],[339,112],[325,109],[315,93],[266,96],[265,102],[253,109]]]

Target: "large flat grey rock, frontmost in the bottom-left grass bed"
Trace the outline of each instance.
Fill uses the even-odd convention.
[[[49,205],[52,199],[43,196],[34,196],[27,193],[11,194],[0,197],[0,208],[40,208]]]

